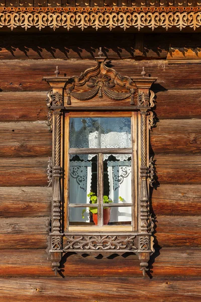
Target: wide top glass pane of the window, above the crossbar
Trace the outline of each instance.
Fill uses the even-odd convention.
[[[130,147],[130,117],[70,118],[70,148]]]

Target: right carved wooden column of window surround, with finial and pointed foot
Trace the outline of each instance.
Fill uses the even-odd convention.
[[[140,136],[140,154],[139,154],[139,167],[140,167],[140,187],[139,187],[139,219],[138,219],[138,230],[139,230],[139,249],[138,255],[140,260],[141,270],[145,276],[145,272],[148,270],[148,261],[150,258],[151,250],[151,232],[150,232],[150,220],[149,220],[149,116],[153,117],[151,107],[154,106],[153,98],[154,93],[150,93],[151,85],[156,81],[155,78],[145,77],[146,72],[143,67],[141,72],[142,78],[132,80],[135,82],[138,88],[138,108],[139,108],[139,128]],[[152,120],[153,125],[153,120]]]

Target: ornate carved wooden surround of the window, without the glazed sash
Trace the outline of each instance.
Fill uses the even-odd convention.
[[[143,70],[139,77],[122,77],[120,73],[105,64],[106,57],[100,50],[95,57],[95,67],[86,69],[79,77],[59,77],[58,67],[55,77],[45,77],[51,90],[47,94],[47,106],[50,108],[48,123],[52,130],[52,162],[48,165],[49,184],[52,183],[52,217],[49,234],[48,252],[55,274],[60,270],[63,253],[120,253],[138,254],[143,275],[148,270],[148,261],[153,249],[153,221],[149,213],[149,184],[153,176],[149,171],[149,130],[153,126],[154,93],[151,85],[157,78],[145,77]],[[90,83],[96,76],[101,78],[92,89]],[[114,88],[105,90],[103,82],[113,81]],[[100,84],[102,83],[102,84]],[[103,94],[108,104],[101,103]],[[98,105],[95,100],[98,99]],[[93,103],[94,101],[94,103]],[[116,103],[118,105],[116,105]],[[94,104],[94,105],[93,105]],[[137,231],[131,232],[67,232],[64,230],[66,192],[63,154],[65,142],[64,122],[66,112],[135,112],[137,118],[137,167],[138,177],[135,183],[137,191]],[[66,129],[65,129],[66,131]],[[67,129],[68,131],[68,129]],[[52,169],[52,173],[51,173]]]

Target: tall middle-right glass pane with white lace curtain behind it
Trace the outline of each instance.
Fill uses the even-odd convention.
[[[104,155],[105,202],[132,203],[131,154]]]

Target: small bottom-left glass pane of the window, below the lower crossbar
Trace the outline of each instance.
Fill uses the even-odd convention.
[[[88,207],[69,207],[69,225],[94,225]]]

